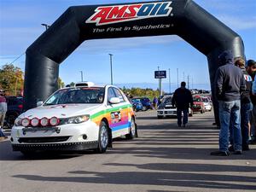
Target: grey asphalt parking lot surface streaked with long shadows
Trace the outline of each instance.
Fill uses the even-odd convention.
[[[26,158],[0,143],[2,192],[26,191],[255,191],[256,145],[241,155],[218,149],[213,113],[196,113],[187,127],[177,119],[137,113],[139,137],[116,139],[106,154],[43,154]],[[9,135],[9,131],[6,132]]]

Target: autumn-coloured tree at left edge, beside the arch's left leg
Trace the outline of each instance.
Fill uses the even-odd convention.
[[[0,87],[7,95],[17,96],[23,91],[24,73],[13,64],[6,64],[0,70]]]

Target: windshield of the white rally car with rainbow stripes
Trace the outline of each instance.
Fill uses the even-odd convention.
[[[104,101],[104,88],[80,87],[58,90],[44,103],[45,105],[58,105],[68,103],[102,103]]]

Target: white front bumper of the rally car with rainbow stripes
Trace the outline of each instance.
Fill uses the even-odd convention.
[[[57,127],[14,126],[11,143],[14,151],[84,150],[97,148],[99,127],[94,122]]]

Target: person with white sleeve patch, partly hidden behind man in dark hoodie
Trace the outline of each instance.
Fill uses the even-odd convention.
[[[250,93],[252,91],[253,79],[247,73],[245,68],[245,61],[241,57],[237,57],[235,59],[235,65],[241,68],[243,73],[243,77],[246,81],[246,90],[241,93],[241,147],[243,151],[249,150],[248,140],[249,140],[249,118],[250,111],[253,109],[253,104],[251,102]],[[233,148],[233,134],[232,130],[230,131],[231,139],[230,139],[230,150],[234,150]]]

